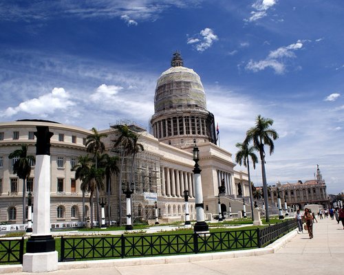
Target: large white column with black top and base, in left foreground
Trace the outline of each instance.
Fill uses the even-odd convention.
[[[23,272],[51,272],[58,269],[58,253],[50,232],[50,138],[54,133],[47,126],[36,129],[34,226],[23,255]]]

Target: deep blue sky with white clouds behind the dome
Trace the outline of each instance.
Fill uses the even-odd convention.
[[[279,133],[268,184],[314,179],[319,164],[336,194],[344,189],[343,14],[342,0],[1,1],[0,121],[147,127],[156,80],[178,50],[200,75],[233,159],[261,114]],[[260,164],[252,181],[261,184]]]

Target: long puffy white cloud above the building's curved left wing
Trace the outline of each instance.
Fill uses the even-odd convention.
[[[10,117],[19,112],[23,112],[45,117],[47,114],[74,106],[74,102],[72,102],[70,98],[71,96],[65,89],[54,88],[50,94],[26,100],[21,102],[17,107],[8,107],[1,116]]]

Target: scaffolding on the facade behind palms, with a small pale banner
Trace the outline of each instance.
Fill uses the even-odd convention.
[[[138,142],[144,148],[147,148],[147,138],[145,138],[147,136],[147,130],[136,122],[129,120],[118,120],[116,123],[110,124],[110,129],[112,130],[110,140],[112,145],[114,145],[119,137],[118,125],[127,125],[129,131],[138,135]],[[112,151],[119,157],[119,168],[123,163],[122,170],[120,171],[121,175],[116,177],[114,192],[112,192],[115,195],[114,197],[116,197],[113,201],[116,201],[116,220],[118,221],[119,217],[121,217],[122,224],[125,224],[127,214],[126,198],[122,194],[122,188],[124,187],[123,184],[127,186],[126,184],[129,183],[130,185],[129,181],[134,183],[134,192],[131,195],[133,223],[155,218],[155,201],[158,201],[158,197],[161,197],[162,194],[160,184],[160,157],[144,150],[135,155],[133,162],[133,155],[123,154],[122,146],[118,146],[118,148],[112,149]],[[119,201],[121,207],[119,206]],[[158,205],[160,203],[161,201],[158,201]],[[111,217],[114,217],[114,215],[111,214]]]

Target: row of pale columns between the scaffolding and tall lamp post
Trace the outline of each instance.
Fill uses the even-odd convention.
[[[166,197],[183,197],[184,190],[189,191],[189,197],[195,197],[193,173],[176,168],[160,167],[162,180],[162,195]]]

